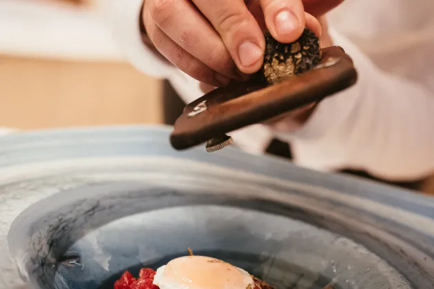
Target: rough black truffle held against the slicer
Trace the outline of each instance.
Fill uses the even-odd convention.
[[[321,59],[320,41],[309,28],[293,43],[280,43],[265,34],[264,64],[259,73],[269,84],[280,83],[291,76],[306,72]]]

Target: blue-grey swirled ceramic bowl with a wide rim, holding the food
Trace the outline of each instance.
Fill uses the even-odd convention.
[[[278,289],[434,288],[433,199],[233,148],[174,151],[169,131],[0,140],[0,211],[14,218],[3,280],[112,288],[190,247]]]

